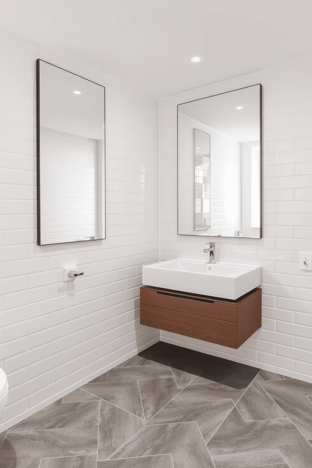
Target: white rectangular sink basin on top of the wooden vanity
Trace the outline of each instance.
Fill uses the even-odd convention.
[[[235,300],[261,285],[261,267],[175,258],[143,266],[143,284]]]

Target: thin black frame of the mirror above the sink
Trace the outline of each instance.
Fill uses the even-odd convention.
[[[262,85],[261,83],[256,83],[254,85],[249,85],[249,86],[244,86],[243,88],[237,88],[237,89],[231,89],[230,91],[225,91],[224,93],[217,93],[213,94],[210,96],[205,96],[201,97],[199,99],[193,99],[191,101],[186,101],[186,102],[180,102],[180,104],[177,104],[177,234],[178,235],[192,235],[195,237],[205,237],[199,236],[198,234],[180,234],[179,233],[179,106],[181,104],[188,104],[189,102],[195,102],[195,101],[202,101],[203,99],[207,99],[208,97],[214,97],[214,96],[219,96],[222,94],[228,94],[232,93],[233,91],[239,91],[240,89],[246,89],[246,88],[252,88],[253,86],[259,86],[259,137],[260,137],[260,184],[259,184],[259,190],[260,190],[260,229],[259,237],[244,237],[244,236],[224,236],[224,239],[262,239]],[[216,235],[209,235],[207,234],[207,237],[213,237],[214,239]],[[223,237],[223,236],[221,236]]]

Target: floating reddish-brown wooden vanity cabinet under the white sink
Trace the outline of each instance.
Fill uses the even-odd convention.
[[[237,349],[261,327],[261,289],[228,300],[142,286],[140,323]]]

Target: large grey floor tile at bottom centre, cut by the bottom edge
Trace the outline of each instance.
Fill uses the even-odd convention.
[[[145,426],[112,458],[170,453],[174,468],[214,468],[195,422]]]

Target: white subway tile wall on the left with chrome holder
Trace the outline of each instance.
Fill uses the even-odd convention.
[[[36,59],[106,87],[107,239],[36,245]],[[159,340],[139,324],[159,259],[158,101],[0,29],[0,432]],[[63,268],[84,277],[63,282]]]

